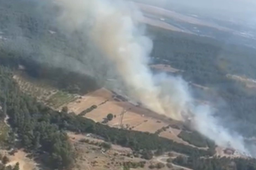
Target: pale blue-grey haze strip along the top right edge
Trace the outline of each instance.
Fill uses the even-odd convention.
[[[204,14],[222,19],[250,20],[255,18],[256,2],[253,0],[133,0],[166,9],[178,9],[184,13]],[[221,18],[220,18],[221,19]]]

